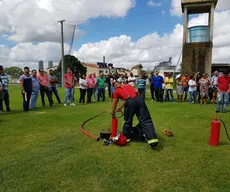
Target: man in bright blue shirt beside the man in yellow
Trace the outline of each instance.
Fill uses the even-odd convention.
[[[162,83],[164,82],[164,78],[159,75],[159,72],[155,72],[155,76],[152,77],[152,82],[154,84],[154,91],[157,102],[163,102],[162,98]]]

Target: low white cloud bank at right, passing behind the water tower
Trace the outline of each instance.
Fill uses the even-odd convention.
[[[207,21],[206,15],[199,15],[190,21],[190,26],[203,25]],[[230,10],[215,12],[214,50],[213,62],[229,62],[230,55]],[[88,43],[75,52],[80,59],[88,62],[102,61],[103,55],[110,57],[109,62],[117,66],[130,67],[133,64],[143,63],[145,67],[153,67],[153,64],[162,60],[173,58],[176,64],[182,51],[183,26],[177,24],[170,34],[160,36],[157,32],[150,33],[132,41],[130,36],[121,35],[103,40],[97,43]]]

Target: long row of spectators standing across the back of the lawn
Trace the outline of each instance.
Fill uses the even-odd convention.
[[[53,74],[53,70],[49,70],[47,75],[43,69],[30,70],[24,68],[24,74],[20,77],[21,93],[23,96],[23,110],[27,112],[30,109],[36,109],[39,92],[42,105],[45,106],[45,95],[48,98],[49,106],[54,106],[53,95],[55,95],[58,104],[62,104],[57,85],[59,80]],[[207,104],[209,99],[211,103],[217,104],[216,112],[226,112],[226,107],[230,101],[230,77],[228,71],[220,74],[215,71],[213,76],[208,74],[197,73],[189,76],[185,73],[176,77],[173,73],[164,73],[159,75],[158,71],[151,72],[150,77],[145,72],[141,73],[138,78],[133,73],[128,76],[125,74],[109,74],[105,76],[100,73],[90,73],[88,76],[81,75],[77,79],[70,68],[64,75],[65,97],[64,106],[69,102],[71,106],[75,106],[74,92],[78,85],[80,90],[79,103],[91,103],[92,100],[100,102],[105,101],[105,90],[108,89],[109,98],[113,98],[115,88],[113,84],[119,82],[121,84],[129,84],[134,87],[139,95],[146,98],[147,81],[150,83],[151,100],[156,102],[173,102],[174,89],[176,91],[177,102],[189,102]],[[8,76],[4,72],[4,68],[0,66],[0,112],[3,112],[3,101],[6,111],[10,111],[10,100],[8,91]],[[221,108],[222,106],[222,108]]]

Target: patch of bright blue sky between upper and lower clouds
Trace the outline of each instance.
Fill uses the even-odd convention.
[[[170,0],[154,2],[162,4],[159,7],[152,7],[148,5],[148,0],[136,0],[136,6],[124,18],[97,18],[79,25],[86,34],[75,39],[74,48],[78,49],[84,43],[107,40],[122,34],[131,36],[133,41],[152,32],[162,36],[164,33],[171,33],[177,23],[183,23],[183,17],[170,15]]]

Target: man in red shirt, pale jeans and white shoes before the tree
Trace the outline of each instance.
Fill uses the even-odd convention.
[[[64,98],[64,106],[66,106],[67,100],[70,100],[70,105],[75,106],[73,103],[73,91],[74,91],[74,75],[72,70],[68,67],[67,73],[64,75],[65,82],[65,98]]]

